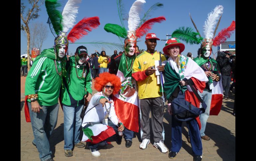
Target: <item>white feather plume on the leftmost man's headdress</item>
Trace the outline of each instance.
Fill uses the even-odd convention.
[[[78,13],[79,3],[82,0],[68,0],[62,12],[63,31],[67,32],[75,24],[76,14]]]

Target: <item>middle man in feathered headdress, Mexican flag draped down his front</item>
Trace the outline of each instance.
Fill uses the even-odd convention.
[[[118,37],[125,38],[124,53],[116,56],[110,62],[110,73],[117,73],[121,79],[121,90],[114,95],[116,115],[124,123],[125,146],[132,145],[133,133],[139,130],[138,116],[138,89],[137,82],[132,77],[132,69],[135,61],[137,38],[147,33],[154,23],[161,23],[164,17],[157,17],[143,23],[139,17],[145,0],[136,0],[129,11],[128,31],[115,24],[106,24],[104,29]],[[159,5],[158,3],[155,6]],[[123,24],[123,23],[122,23]],[[141,24],[141,26],[140,26]],[[115,29],[115,30],[113,30]],[[120,34],[121,33],[121,34]]]

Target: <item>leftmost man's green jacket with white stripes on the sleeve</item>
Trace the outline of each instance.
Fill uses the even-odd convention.
[[[65,65],[65,58],[56,61],[59,72]],[[56,71],[54,60],[54,48],[44,49],[42,54],[34,60],[26,78],[25,96],[38,94],[38,103],[41,106],[52,106],[58,103],[62,79]]]

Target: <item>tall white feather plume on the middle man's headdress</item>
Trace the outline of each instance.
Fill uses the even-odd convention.
[[[135,31],[140,24],[140,12],[142,11],[143,4],[146,3],[145,0],[137,0],[132,4],[129,11],[128,18],[128,29],[129,31]]]

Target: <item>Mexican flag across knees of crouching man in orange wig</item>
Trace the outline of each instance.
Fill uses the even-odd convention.
[[[113,136],[115,133],[115,130],[110,126],[105,124],[94,124],[83,129],[82,141],[97,144],[110,136]]]

